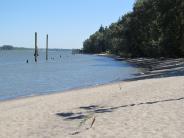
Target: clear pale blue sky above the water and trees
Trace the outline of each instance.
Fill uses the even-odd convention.
[[[0,0],[0,45],[81,48],[100,25],[132,10],[135,0]]]

